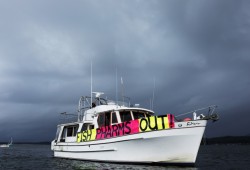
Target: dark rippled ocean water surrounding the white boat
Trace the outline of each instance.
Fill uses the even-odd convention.
[[[0,148],[1,170],[81,169],[250,169],[250,145],[201,146],[194,167],[112,164],[54,158],[50,145],[14,144]]]

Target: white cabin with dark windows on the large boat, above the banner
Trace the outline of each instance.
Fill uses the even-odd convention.
[[[95,113],[98,107],[101,106],[93,108],[92,120],[83,118],[83,121],[58,125],[55,142],[76,142],[78,132],[146,118],[154,114],[147,109],[127,107],[120,107],[117,110],[113,108],[112,110]]]

